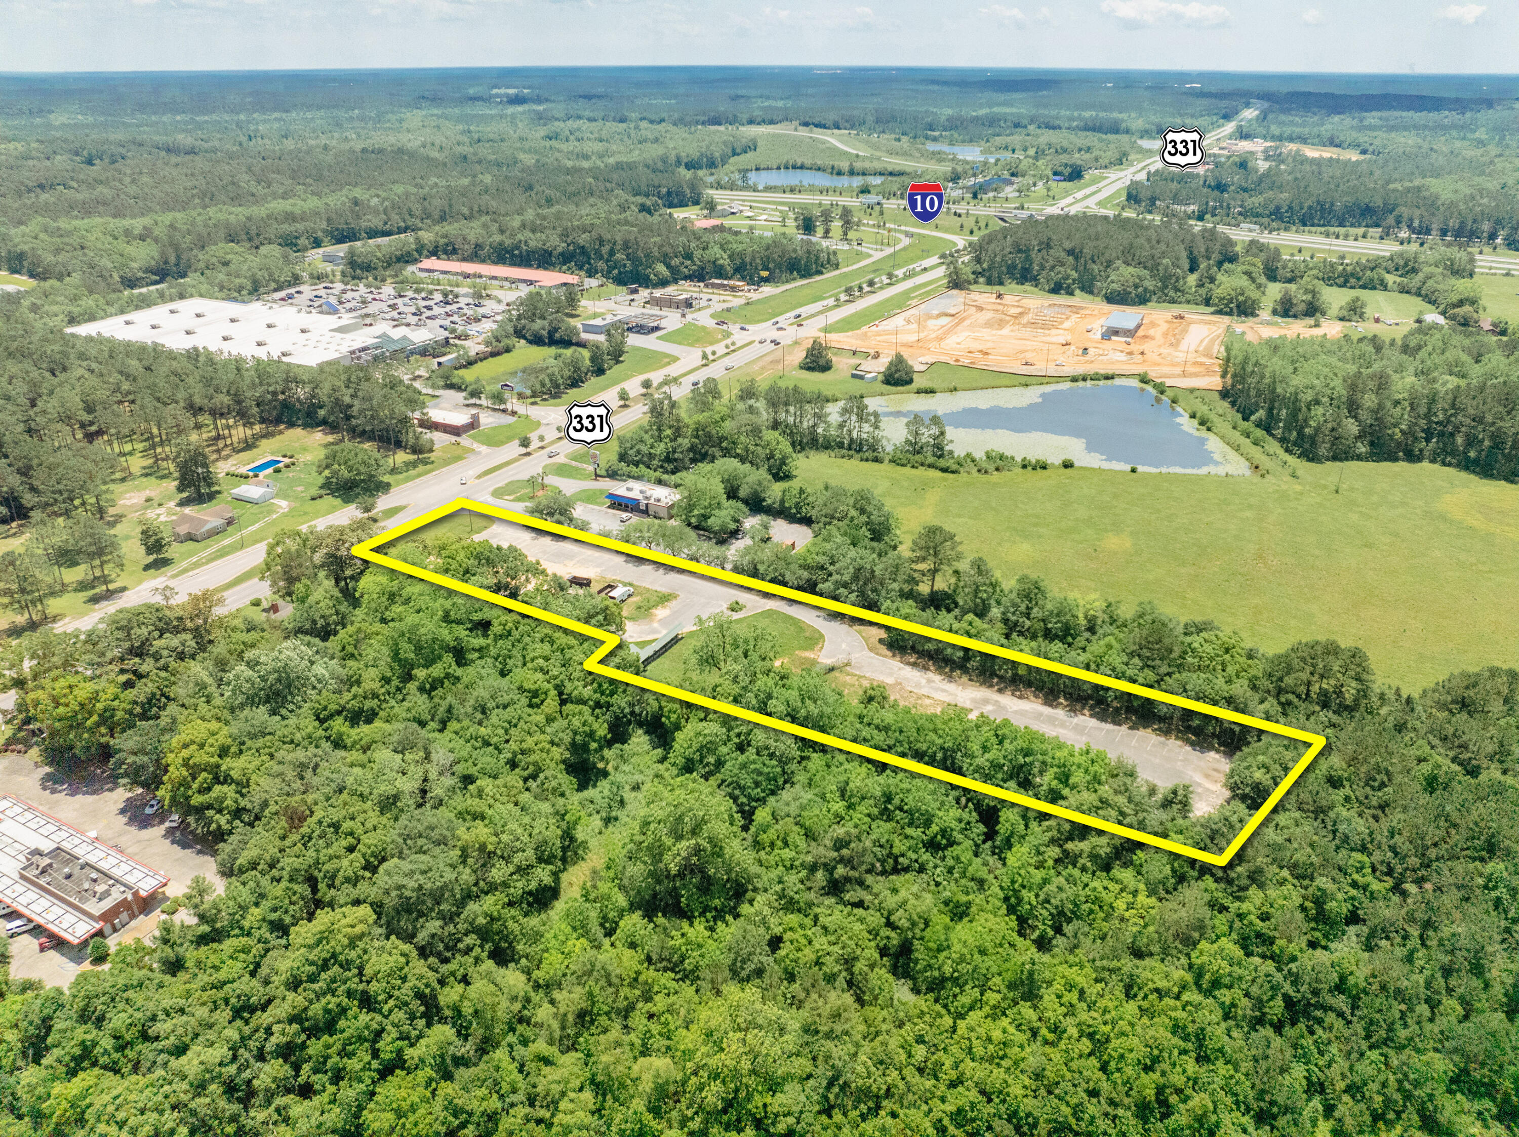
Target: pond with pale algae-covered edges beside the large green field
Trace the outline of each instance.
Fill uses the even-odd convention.
[[[866,402],[881,411],[893,443],[905,437],[913,414],[937,414],[962,454],[996,449],[1098,469],[1138,466],[1147,474],[1250,472],[1238,454],[1135,380],[884,395]]]

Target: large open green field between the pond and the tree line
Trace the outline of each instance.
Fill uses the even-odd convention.
[[[1267,651],[1353,644],[1405,691],[1519,666],[1519,486],[1428,465],[1294,465],[1297,478],[969,475],[810,457],[797,474],[869,486],[901,516],[904,543],[937,522],[1004,580],[1153,600]]]

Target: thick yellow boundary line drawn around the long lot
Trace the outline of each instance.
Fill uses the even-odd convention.
[[[387,557],[375,550],[380,545],[403,537],[413,530],[430,525],[434,521],[447,518],[457,510],[471,510],[474,513],[483,513],[488,518],[497,518],[500,521],[510,521],[518,525],[527,525],[529,528],[542,530],[557,537],[570,537],[573,540],[583,542],[586,545],[597,545],[612,553],[623,553],[632,557],[641,557],[643,560],[653,560],[670,568],[684,569],[687,572],[699,572],[703,577],[712,577],[714,580],[723,580],[729,584],[738,584],[740,587],[753,589],[756,592],[769,592],[772,597],[784,597],[787,600],[794,600],[802,604],[810,604],[813,607],[826,609],[829,612],[837,612],[843,616],[852,616],[855,619],[863,619],[870,624],[881,624],[884,627],[899,628],[902,631],[911,631],[919,636],[927,636],[930,639],[939,639],[945,644],[955,644],[957,647],[969,648],[971,651],[984,651],[990,656],[1000,656],[1001,659],[1010,659],[1015,663],[1025,663],[1028,666],[1042,668],[1044,671],[1054,671],[1062,676],[1069,676],[1071,679],[1083,679],[1089,683],[1098,683],[1106,688],[1113,688],[1115,691],[1126,691],[1132,695],[1142,695],[1144,698],[1153,698],[1161,703],[1170,703],[1176,707],[1183,707],[1186,710],[1195,710],[1203,715],[1214,715],[1215,718],[1223,718],[1230,723],[1240,723],[1241,726],[1255,727],[1256,730],[1264,730],[1270,735],[1282,735],[1284,738],[1293,738],[1299,742],[1306,742],[1308,750],[1297,764],[1291,768],[1282,783],[1271,791],[1271,795],[1265,798],[1265,805],[1255,811],[1255,817],[1240,830],[1240,835],[1229,843],[1229,847],[1223,853],[1209,853],[1202,849],[1192,849],[1191,846],[1183,846],[1179,841],[1170,841],[1164,836],[1154,836],[1151,833],[1139,832],[1138,829],[1129,829],[1127,826],[1116,824],[1113,821],[1104,821],[1100,817],[1092,817],[1089,814],[1080,814],[1074,809],[1066,809],[1065,806],[1050,805],[1048,802],[1041,802],[1036,797],[1028,797],[1025,794],[1013,792],[1012,789],[1003,789],[1001,786],[993,786],[987,782],[977,782],[971,777],[962,777],[960,774],[951,774],[946,770],[937,770],[922,762],[913,762],[907,757],[898,757],[896,754],[887,754],[884,750],[875,750],[872,747],[860,745],[858,742],[851,742],[846,738],[834,738],[832,735],[825,735],[820,730],[810,730],[807,727],[799,727],[793,723],[784,723],[779,718],[772,718],[770,715],[761,715],[758,710],[747,710],[744,707],[734,706],[732,703],[723,703],[715,698],[708,698],[706,695],[697,695],[693,691],[682,691],[681,688],[673,688],[668,683],[658,683],[644,676],[633,676],[627,671],[618,671],[617,668],[609,668],[602,663],[606,656],[623,642],[623,638],[612,633],[603,631],[602,628],[591,627],[589,624],[582,624],[580,621],[561,616],[556,612],[545,612],[544,609],[533,607],[532,604],[524,604],[519,600],[510,600],[509,597],[497,595],[495,592],[488,592],[486,589],[475,587],[474,584],[465,584],[463,581],[453,580],[442,575],[441,572],[433,572],[430,569],[418,568],[416,565],[407,565],[404,560],[396,560],[395,557]],[[826,597],[817,597],[811,592],[799,592],[797,589],[788,589],[782,584],[770,584],[763,580],[753,580],[752,577],[741,577],[737,572],[729,572],[728,569],[712,568],[711,565],[697,565],[691,560],[682,560],[681,557],[671,557],[665,553],[655,553],[653,550],[638,548],[636,545],[627,545],[621,540],[612,537],[602,537],[594,533],[585,533],[582,530],[570,528],[567,525],[557,525],[551,521],[542,521],[533,518],[527,513],[516,513],[513,510],[506,510],[498,506],[488,506],[482,501],[471,501],[469,498],[456,498],[447,506],[439,506],[434,510],[424,513],[419,518],[403,522],[393,528],[380,533],[378,536],[369,537],[354,545],[352,553],[355,557],[372,562],[375,565],[383,565],[384,568],[395,569],[396,572],[404,572],[409,577],[418,577],[419,580],[431,581],[433,584],[442,584],[454,592],[462,592],[466,597],[474,597],[475,600],[483,600],[488,604],[498,604],[500,607],[510,609],[512,612],[519,612],[524,616],[532,616],[533,619],[542,619],[554,627],[565,628],[567,631],[576,631],[582,636],[589,636],[591,639],[602,641],[591,657],[585,662],[585,669],[595,676],[605,676],[608,679],[615,679],[621,683],[630,683],[632,686],[643,688],[644,691],[653,691],[659,695],[668,695],[670,698],[679,698],[684,703],[693,703],[699,707],[706,707],[708,710],[715,710],[723,715],[732,715],[734,718],[741,718],[747,723],[758,723],[763,727],[770,727],[772,730],[782,730],[788,735],[796,735],[797,738],[805,738],[811,742],[820,742],[826,747],[834,747],[835,750],[846,750],[851,754],[858,754],[860,757],[869,757],[873,762],[881,762],[889,767],[896,767],[898,770],[908,770],[914,774],[922,774],[925,777],[936,777],[940,782],[948,782],[949,785],[960,786],[962,789],[974,789],[978,794],[987,794],[989,797],[1001,798],[1003,802],[1013,802],[1015,805],[1027,806],[1028,809],[1037,809],[1044,814],[1053,814],[1054,817],[1065,818],[1066,821],[1074,821],[1077,824],[1091,826],[1092,829],[1101,829],[1107,833],[1115,833],[1116,836],[1126,836],[1130,841],[1141,841],[1147,846],[1154,846],[1156,849],[1165,849],[1170,853],[1177,853],[1180,856],[1191,856],[1197,861],[1203,861],[1211,865],[1226,865],[1240,852],[1241,846],[1250,839],[1250,835],[1259,827],[1259,824],[1267,818],[1267,815],[1276,808],[1276,803],[1282,800],[1282,795],[1293,788],[1293,783],[1308,770],[1308,764],[1312,762],[1318,751],[1325,748],[1326,739],[1323,735],[1314,735],[1306,730],[1299,730],[1296,727],[1282,726],[1281,723],[1267,723],[1264,718],[1253,718],[1252,715],[1241,715],[1238,710],[1229,710],[1227,707],[1215,707],[1208,703],[1198,703],[1191,698],[1183,698],[1182,695],[1173,695],[1167,691],[1156,691],[1153,688],[1139,686],[1138,683],[1129,683],[1123,679],[1112,679],[1109,676],[1098,676],[1095,671],[1083,671],[1080,668],[1072,668],[1065,663],[1056,663],[1050,659],[1039,659],[1037,656],[1028,656],[1022,651],[1013,651],[1012,648],[996,647],[995,644],[984,644],[978,639],[969,639],[966,636],[957,636],[952,631],[940,631],[939,628],[925,627],[922,624],[913,624],[907,619],[898,619],[896,616],[887,616],[880,612],[870,612],[869,609],[854,607],[852,604],[840,604],[837,600],[828,600]]]

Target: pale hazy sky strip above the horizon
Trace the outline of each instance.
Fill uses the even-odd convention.
[[[0,70],[875,64],[1513,73],[1519,0],[0,0]]]

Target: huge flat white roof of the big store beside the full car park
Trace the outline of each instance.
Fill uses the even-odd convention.
[[[403,323],[375,320],[365,326],[360,316],[331,316],[263,302],[207,301],[199,296],[81,323],[68,331],[76,335],[159,343],[176,351],[205,348],[245,360],[283,360],[307,366],[331,360],[357,363],[380,352],[436,339],[427,329]]]

